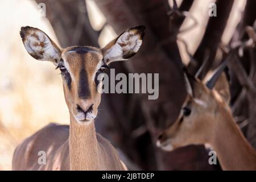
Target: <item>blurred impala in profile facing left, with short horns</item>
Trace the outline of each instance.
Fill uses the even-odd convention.
[[[256,152],[243,137],[229,107],[229,82],[222,72],[225,64],[206,84],[184,72],[187,98],[174,124],[159,135],[157,146],[172,151],[188,144],[209,144],[222,169],[256,170]]]

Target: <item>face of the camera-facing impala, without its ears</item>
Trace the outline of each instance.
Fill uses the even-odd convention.
[[[65,101],[76,121],[94,119],[101,101],[101,94],[97,92],[101,82],[97,76],[108,69],[100,50],[90,47],[64,49],[57,68],[63,78]]]

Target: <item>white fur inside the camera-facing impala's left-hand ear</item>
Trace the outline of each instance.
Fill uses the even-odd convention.
[[[35,33],[38,36],[38,39],[35,38],[35,36],[28,35],[27,41],[24,42],[24,45],[28,53],[39,54],[40,52],[43,52],[42,60],[47,60],[47,61],[49,61],[49,59],[59,60],[60,58],[59,53],[57,52],[55,47],[52,46],[51,40],[48,38],[48,36],[41,31],[35,31],[33,33]],[[40,46],[40,43],[44,43],[44,47]]]

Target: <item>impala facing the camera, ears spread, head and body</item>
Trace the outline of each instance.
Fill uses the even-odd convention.
[[[126,30],[106,47],[61,49],[41,30],[22,27],[27,52],[37,60],[51,61],[61,71],[70,126],[49,124],[24,140],[13,156],[14,170],[124,170],[125,165],[108,140],[97,134],[94,118],[101,101],[102,80],[97,76],[112,61],[127,60],[141,47],[144,26]],[[38,163],[40,151],[46,164]]]

